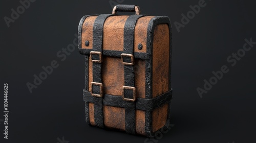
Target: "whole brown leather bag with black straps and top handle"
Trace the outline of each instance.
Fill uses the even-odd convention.
[[[78,39],[89,125],[145,136],[168,127],[172,27],[167,16],[140,15],[136,5],[117,5],[112,14],[83,16]]]

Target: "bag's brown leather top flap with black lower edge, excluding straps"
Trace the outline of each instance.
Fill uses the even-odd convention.
[[[82,25],[81,48],[78,48],[80,54],[90,55],[93,45],[93,23],[97,16],[87,17]],[[111,16],[105,20],[103,28],[103,55],[121,57],[123,53],[124,25],[127,15]],[[138,59],[150,59],[151,53],[147,53],[147,23],[155,16],[144,16],[138,19],[134,34],[134,57]],[[121,34],[120,34],[121,33]],[[118,37],[118,38],[117,38]],[[109,40],[111,39],[111,40]],[[85,42],[89,41],[89,46]],[[138,50],[138,44],[143,48]]]

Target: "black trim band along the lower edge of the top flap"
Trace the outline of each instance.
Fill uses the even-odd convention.
[[[92,49],[81,49],[78,47],[78,52],[82,55],[90,55],[91,51],[93,51],[93,50]],[[102,54],[104,56],[120,58],[122,53],[123,53],[123,51],[102,50]],[[134,58],[146,60],[146,59],[150,59],[150,54],[134,52]]]

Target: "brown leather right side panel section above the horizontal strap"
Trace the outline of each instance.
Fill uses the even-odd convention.
[[[167,24],[157,25],[153,42],[153,98],[169,89],[169,28]]]

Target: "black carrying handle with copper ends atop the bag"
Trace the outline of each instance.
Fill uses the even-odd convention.
[[[135,11],[136,15],[140,15],[140,7],[136,5],[116,5],[112,14],[116,14],[117,11]]]

